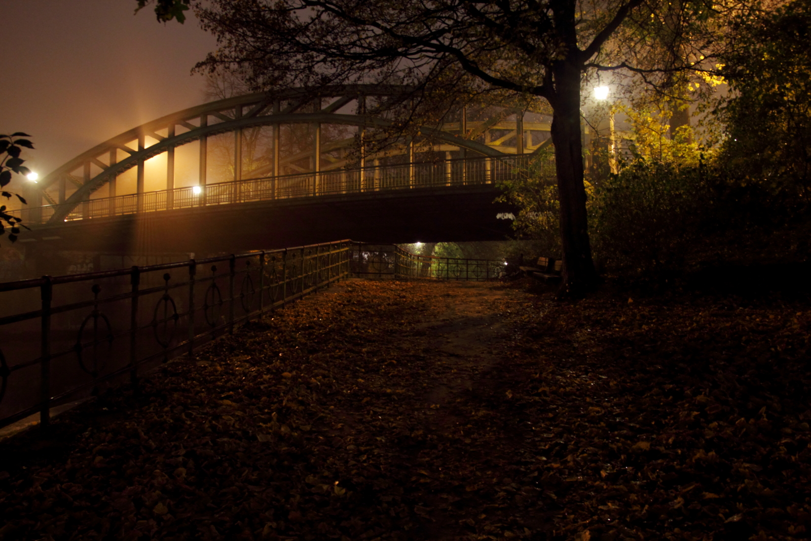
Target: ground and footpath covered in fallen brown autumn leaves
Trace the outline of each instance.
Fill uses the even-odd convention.
[[[808,539],[809,327],[344,282],[66,414],[0,539]]]

